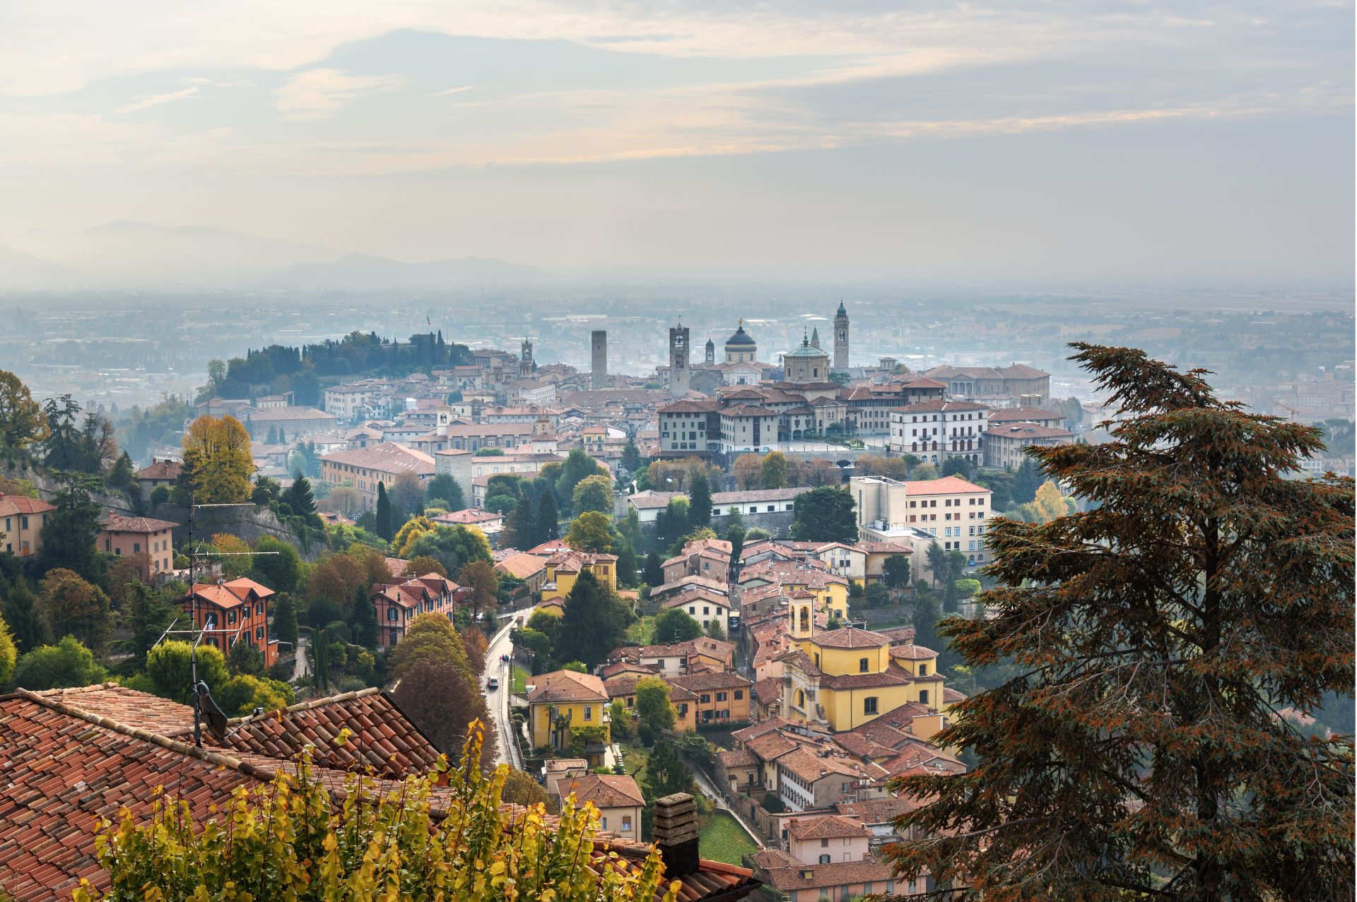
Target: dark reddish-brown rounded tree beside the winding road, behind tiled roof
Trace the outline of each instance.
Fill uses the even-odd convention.
[[[489,726],[493,723],[490,709],[476,678],[468,670],[456,663],[421,661],[400,678],[392,699],[444,754],[455,754],[463,746],[472,722],[487,724],[480,768],[494,769],[495,743],[493,727]]]

